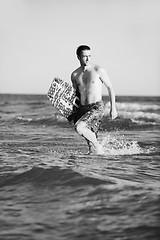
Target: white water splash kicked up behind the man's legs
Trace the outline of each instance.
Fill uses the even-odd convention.
[[[107,155],[134,155],[142,153],[137,141],[128,141],[124,136],[106,136],[102,139],[101,145]]]

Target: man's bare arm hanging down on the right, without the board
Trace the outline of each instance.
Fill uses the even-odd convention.
[[[115,103],[115,93],[114,93],[112,83],[110,81],[110,78],[108,77],[108,74],[103,68],[99,68],[98,72],[99,72],[99,76],[102,83],[104,83],[105,87],[108,90],[109,100],[111,104],[110,116],[112,119],[115,119],[117,117],[117,110],[116,110],[116,103]]]

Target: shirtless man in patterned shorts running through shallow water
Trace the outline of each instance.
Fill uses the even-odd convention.
[[[72,85],[80,95],[80,108],[77,109],[74,116],[75,129],[87,140],[89,153],[91,153],[93,144],[96,153],[102,154],[102,146],[97,140],[97,132],[104,109],[102,84],[104,83],[108,89],[111,104],[110,116],[112,119],[117,117],[115,94],[106,71],[90,62],[90,47],[85,45],[79,46],[76,53],[80,67],[71,74]]]

